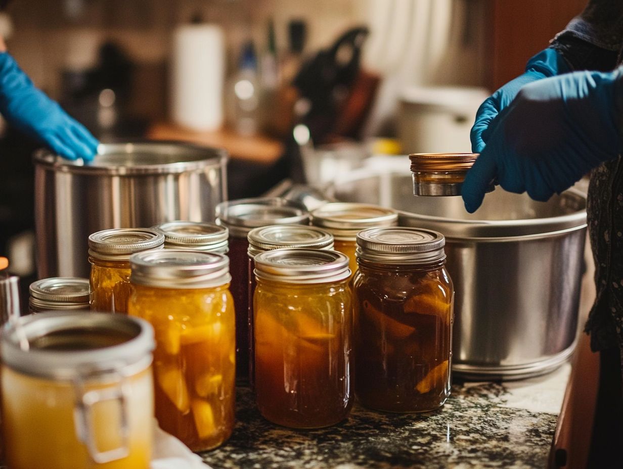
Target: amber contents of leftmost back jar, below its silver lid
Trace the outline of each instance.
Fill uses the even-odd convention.
[[[130,262],[88,258],[91,263],[91,310],[126,313],[130,298]]]

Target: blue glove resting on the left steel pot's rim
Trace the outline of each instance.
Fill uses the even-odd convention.
[[[36,88],[7,52],[0,53],[0,113],[65,158],[88,161],[97,153],[95,137]]]

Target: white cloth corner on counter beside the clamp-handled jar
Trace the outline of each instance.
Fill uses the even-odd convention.
[[[151,469],[210,469],[178,438],[160,429],[157,422],[154,422],[153,427]]]

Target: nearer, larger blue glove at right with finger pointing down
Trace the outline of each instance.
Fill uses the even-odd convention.
[[[622,123],[623,68],[525,85],[485,132],[487,146],[462,187],[465,208],[475,212],[496,178],[506,191],[546,201],[616,158]]]

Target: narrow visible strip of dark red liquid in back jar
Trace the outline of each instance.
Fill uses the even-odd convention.
[[[236,377],[240,383],[249,381],[249,242],[246,237],[229,238],[229,272],[235,307],[235,359]]]

